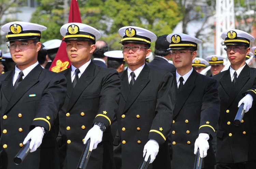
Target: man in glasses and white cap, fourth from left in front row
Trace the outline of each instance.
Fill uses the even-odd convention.
[[[168,49],[177,68],[172,129],[168,136],[172,169],[192,168],[199,149],[204,158],[202,168],[214,169],[216,164],[211,144],[219,118],[217,81],[201,75],[192,68],[201,40],[172,33],[167,36]]]

